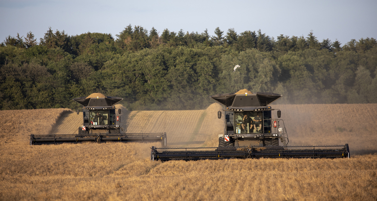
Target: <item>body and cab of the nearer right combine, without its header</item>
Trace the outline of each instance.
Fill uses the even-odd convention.
[[[224,134],[219,136],[219,147],[228,146],[283,146],[289,143],[281,112],[272,119],[269,104],[282,97],[276,93],[237,92],[210,96],[225,107]],[[222,117],[221,111],[217,114]]]

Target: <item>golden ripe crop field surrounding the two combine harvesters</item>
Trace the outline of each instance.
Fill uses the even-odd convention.
[[[30,146],[30,134],[77,133],[81,115],[0,111],[0,200],[377,200],[377,104],[273,107],[291,145],[348,143],[351,158],[161,163],[150,161],[153,143]],[[217,146],[219,109],[123,108],[123,132],[166,132],[173,147]]]

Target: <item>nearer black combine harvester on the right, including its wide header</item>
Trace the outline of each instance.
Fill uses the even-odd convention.
[[[243,89],[210,97],[225,106],[224,134],[219,136],[219,147],[152,147],[151,160],[350,157],[348,144],[290,146],[280,109],[268,106],[282,97],[280,94]],[[272,110],[277,110],[277,119],[272,119]],[[221,111],[217,117],[222,117]]]

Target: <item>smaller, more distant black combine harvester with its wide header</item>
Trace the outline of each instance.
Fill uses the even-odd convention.
[[[93,93],[73,100],[83,106],[83,125],[78,127],[78,134],[32,134],[30,145],[138,141],[161,142],[162,147],[166,147],[166,133],[121,133],[121,109],[116,114],[114,105],[123,98]]]

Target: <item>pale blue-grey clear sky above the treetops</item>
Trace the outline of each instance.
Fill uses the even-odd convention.
[[[377,1],[0,0],[0,43],[29,31],[39,42],[49,27],[71,36],[111,33],[116,39],[128,25],[148,31],[154,27],[160,35],[164,29],[207,29],[212,36],[216,27],[224,35],[232,28],[237,34],[261,30],[274,39],[313,32],[319,42],[328,38],[343,46],[351,39],[377,39]]]

